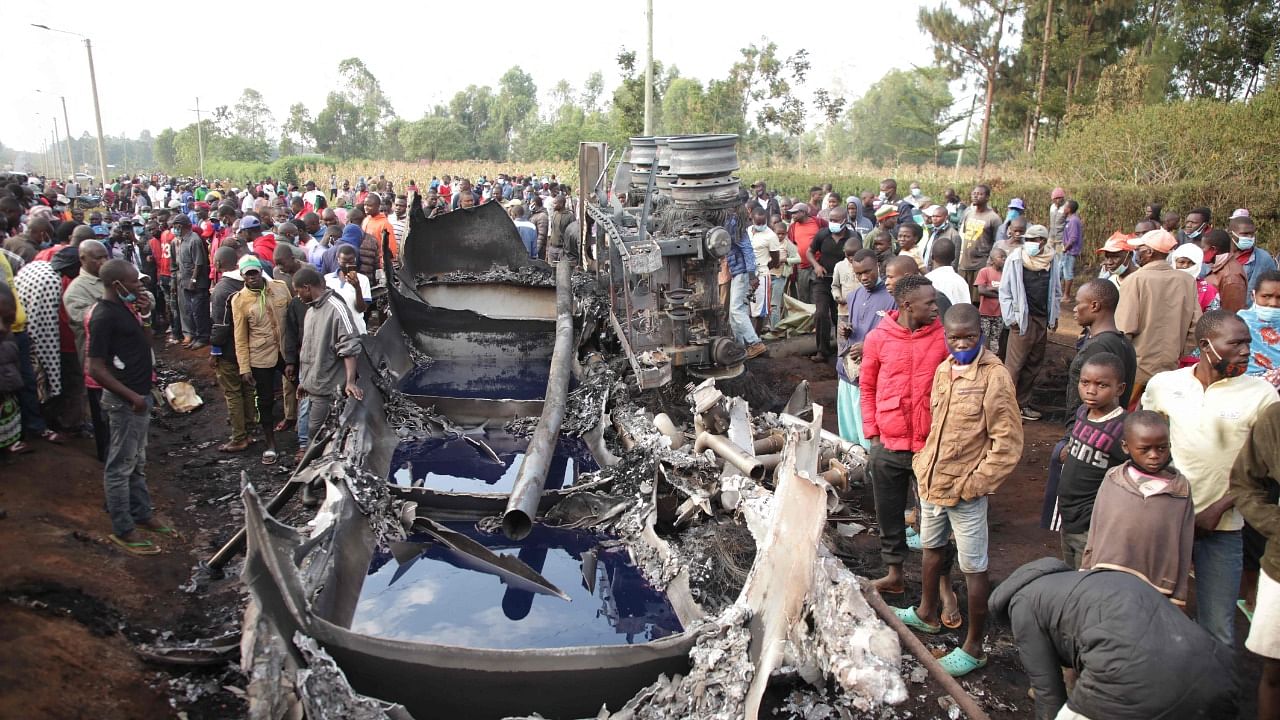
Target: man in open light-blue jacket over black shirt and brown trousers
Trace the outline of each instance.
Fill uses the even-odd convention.
[[[1048,228],[1030,225],[1023,238],[1009,240],[1009,259],[1000,277],[1000,314],[1009,327],[1005,368],[1018,388],[1024,420],[1039,420],[1030,406],[1036,378],[1044,364],[1050,331],[1057,329],[1062,304],[1061,269]]]

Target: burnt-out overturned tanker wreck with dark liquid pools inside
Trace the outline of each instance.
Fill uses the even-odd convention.
[[[276,497],[244,484],[251,717],[850,717],[906,697],[899,634],[829,550],[861,447],[804,386],[785,407],[735,396],[755,397],[717,287],[746,223],[735,143],[582,143],[554,265],[495,204],[413,205],[364,401]],[[307,483],[315,516],[276,520]]]

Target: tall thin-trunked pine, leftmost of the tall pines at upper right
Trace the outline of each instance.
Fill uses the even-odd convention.
[[[968,73],[978,76],[986,88],[982,114],[982,141],[978,150],[978,173],[987,167],[987,143],[991,140],[991,106],[996,91],[996,74],[1005,53],[1001,41],[1005,22],[1015,12],[1011,0],[957,0],[966,17],[957,17],[946,5],[934,10],[920,8],[920,29],[933,36],[933,55],[938,65],[954,78]]]

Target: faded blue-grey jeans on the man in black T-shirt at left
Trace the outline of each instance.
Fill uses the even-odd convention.
[[[138,414],[122,397],[102,391],[102,410],[111,425],[102,484],[106,489],[106,511],[111,515],[111,532],[118,537],[132,532],[134,524],[151,519],[146,464],[152,400],[150,393],[145,397],[147,410]]]

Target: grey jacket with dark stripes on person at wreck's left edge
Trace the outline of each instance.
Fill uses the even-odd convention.
[[[360,347],[360,332],[351,309],[334,291],[325,290],[311,302],[302,323],[298,387],[308,395],[337,395],[347,380],[343,357],[356,355]]]

